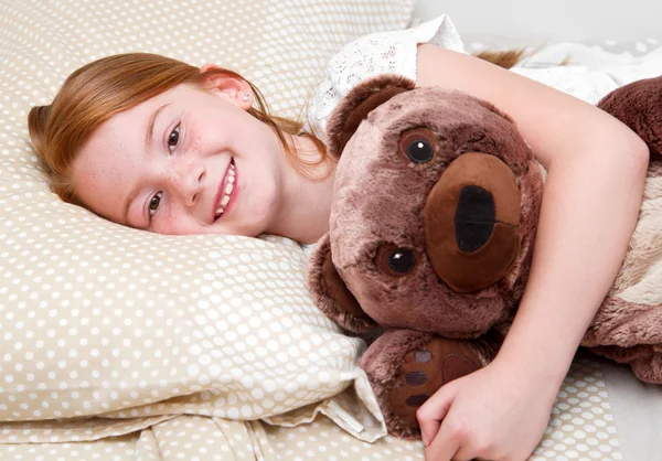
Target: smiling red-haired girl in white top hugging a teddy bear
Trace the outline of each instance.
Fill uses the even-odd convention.
[[[530,281],[498,357],[417,414],[427,459],[525,459],[634,228],[648,149],[618,120],[465,54],[441,17],[348,45],[311,101],[308,130],[269,116],[236,73],[132,54],[76,71],[50,106],[31,110],[30,133],[60,196],[114,222],[312,244],[328,228],[333,190],[325,119],[353,85],[385,72],[490,100],[547,169]],[[576,72],[544,75],[563,86]]]

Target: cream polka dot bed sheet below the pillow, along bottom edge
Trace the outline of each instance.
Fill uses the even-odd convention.
[[[419,441],[367,443],[301,409],[276,425],[205,416],[0,425],[0,459],[36,460],[423,460]],[[291,427],[296,425],[297,427]],[[75,443],[73,443],[75,442]],[[579,356],[558,394],[534,461],[622,460],[599,362]]]

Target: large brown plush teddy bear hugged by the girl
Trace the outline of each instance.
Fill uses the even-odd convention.
[[[662,383],[662,77],[598,106],[647,142],[650,165],[628,254],[581,345]],[[417,438],[418,407],[499,351],[531,267],[545,172],[492,104],[396,75],[354,87],[327,138],[334,199],[309,286],[348,333],[381,332],[360,366],[388,431]]]

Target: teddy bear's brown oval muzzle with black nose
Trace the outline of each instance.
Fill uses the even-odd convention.
[[[424,210],[425,245],[437,276],[460,292],[501,279],[520,247],[517,179],[495,156],[459,156],[433,186]]]

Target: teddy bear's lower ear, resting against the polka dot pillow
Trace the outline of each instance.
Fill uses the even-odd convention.
[[[375,326],[354,294],[335,270],[331,258],[331,244],[327,233],[317,244],[308,264],[308,285],[317,307],[343,329],[362,333]]]

